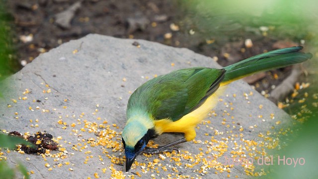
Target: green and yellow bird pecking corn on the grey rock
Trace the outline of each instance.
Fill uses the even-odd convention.
[[[128,100],[127,122],[121,134],[126,172],[143,152],[171,152],[176,149],[170,147],[192,141],[196,137],[196,125],[217,105],[218,96],[229,83],[257,72],[283,68],[311,59],[311,53],[299,52],[302,49],[302,46],[296,46],[273,50],[222,69],[181,69],[141,85]],[[183,133],[184,137],[158,148],[147,147],[150,139],[172,132]]]

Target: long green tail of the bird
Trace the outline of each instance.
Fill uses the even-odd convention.
[[[301,49],[302,46],[273,50],[227,66],[222,83],[228,84],[253,73],[305,62],[313,57],[311,53],[299,52]]]

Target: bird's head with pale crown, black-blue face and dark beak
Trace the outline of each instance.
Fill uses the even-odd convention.
[[[154,129],[147,128],[139,121],[132,121],[126,124],[122,132],[122,141],[126,156],[126,172],[129,171],[135,158],[146,148],[154,134]]]

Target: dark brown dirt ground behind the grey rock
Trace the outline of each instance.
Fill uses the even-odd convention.
[[[178,25],[185,12],[177,0],[8,0],[7,5],[14,19],[22,66],[40,53],[89,33],[184,47],[217,59],[222,66],[272,50],[276,42],[268,37],[251,37],[252,48],[245,48],[242,39],[211,46],[213,41],[193,35],[191,28],[182,29],[186,25]],[[285,68],[264,73],[249,83],[258,91],[268,92],[289,72],[290,68]]]

